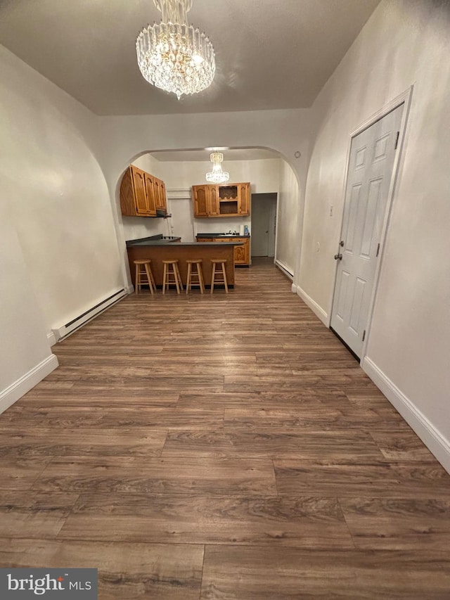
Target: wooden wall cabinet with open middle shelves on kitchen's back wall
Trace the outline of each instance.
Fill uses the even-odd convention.
[[[250,215],[250,183],[192,186],[194,217]]]

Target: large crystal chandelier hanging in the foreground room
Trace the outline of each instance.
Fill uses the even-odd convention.
[[[204,33],[188,25],[192,0],[153,0],[161,23],[144,28],[136,39],[141,73],[148,82],[181,94],[197,94],[212,83],[214,49]]]

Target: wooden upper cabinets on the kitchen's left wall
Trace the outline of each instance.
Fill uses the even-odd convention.
[[[120,184],[120,208],[128,217],[156,217],[156,209],[166,209],[164,181],[130,165]]]

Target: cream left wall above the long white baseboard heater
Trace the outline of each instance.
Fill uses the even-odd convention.
[[[98,117],[2,46],[0,70],[1,203],[49,332],[123,287]]]

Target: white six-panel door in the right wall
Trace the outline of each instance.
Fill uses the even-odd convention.
[[[404,105],[352,140],[330,325],[361,356]]]

